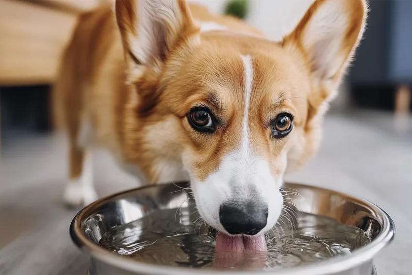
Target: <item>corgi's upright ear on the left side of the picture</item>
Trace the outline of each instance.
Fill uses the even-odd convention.
[[[115,13],[126,62],[137,74],[159,72],[173,47],[197,30],[184,0],[116,0]]]

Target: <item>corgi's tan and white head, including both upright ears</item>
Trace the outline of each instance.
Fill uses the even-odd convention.
[[[211,226],[250,235],[272,228],[283,174],[316,150],[365,13],[362,0],[317,0],[271,42],[201,33],[184,1],[117,1],[146,174],[167,181],[169,166],[182,163]]]

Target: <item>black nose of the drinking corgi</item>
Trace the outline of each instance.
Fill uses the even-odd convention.
[[[227,203],[220,206],[220,223],[232,235],[255,235],[268,221],[268,206],[256,203]]]

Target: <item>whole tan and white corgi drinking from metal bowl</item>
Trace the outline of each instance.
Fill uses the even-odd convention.
[[[97,199],[87,148],[99,144],[142,184],[189,180],[221,243],[262,236],[284,174],[318,148],[366,14],[364,0],[315,0],[281,41],[184,0],[82,14],[54,90],[69,139],[64,200]]]

